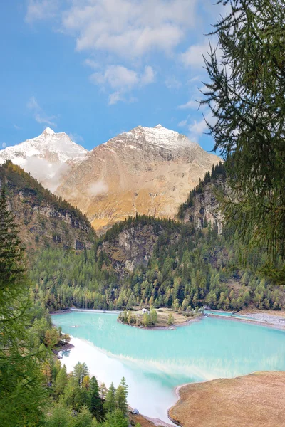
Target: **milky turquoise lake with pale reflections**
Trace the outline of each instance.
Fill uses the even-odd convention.
[[[52,316],[75,346],[63,352],[68,371],[86,362],[107,386],[122,376],[130,406],[170,423],[167,408],[175,386],[229,378],[253,371],[285,371],[285,332],[219,317],[204,317],[174,330],[142,330],[117,322],[118,315],[71,312]]]

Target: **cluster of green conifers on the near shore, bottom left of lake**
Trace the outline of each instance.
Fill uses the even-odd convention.
[[[97,379],[94,376],[89,379],[87,373],[86,364],[79,362],[68,375],[64,366],[57,367],[56,376],[51,379],[49,388],[55,400],[46,410],[44,425],[47,427],[128,426],[128,418],[125,417],[128,410],[128,386],[125,379],[122,379],[118,389],[110,384],[107,394],[104,393],[104,401],[99,395]],[[56,394],[53,394],[53,390]]]

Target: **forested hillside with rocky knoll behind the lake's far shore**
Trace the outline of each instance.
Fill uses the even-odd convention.
[[[206,219],[196,226],[196,205],[217,181],[224,182],[222,165],[213,168],[212,176],[206,174],[182,207],[192,210],[192,221],[137,216],[113,226],[80,255],[61,249],[41,252],[31,270],[36,297],[52,310],[71,305],[153,305],[182,311],[202,305],[224,310],[284,308],[284,291],[259,275],[266,251],[249,251],[237,231],[219,228],[217,222]]]

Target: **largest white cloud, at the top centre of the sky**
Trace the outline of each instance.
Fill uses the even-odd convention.
[[[78,51],[108,51],[139,57],[172,51],[195,25],[197,0],[74,0],[63,14],[63,30]]]

